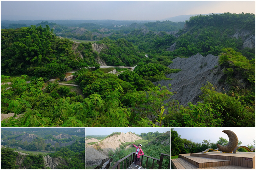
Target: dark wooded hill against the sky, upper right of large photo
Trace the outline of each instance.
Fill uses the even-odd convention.
[[[243,48],[245,37],[255,36],[255,14],[228,12],[193,16],[178,34],[173,51],[177,55],[219,55],[222,48],[233,48],[249,59],[255,58],[255,42],[254,50]]]

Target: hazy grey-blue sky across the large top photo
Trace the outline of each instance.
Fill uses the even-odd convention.
[[[1,20],[162,20],[179,15],[254,13],[255,1],[2,1]]]

